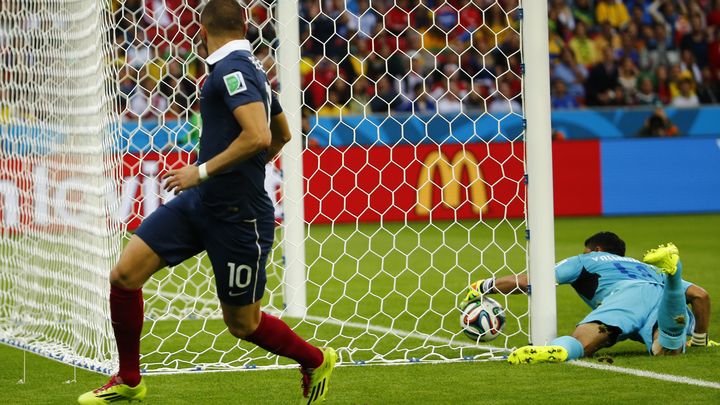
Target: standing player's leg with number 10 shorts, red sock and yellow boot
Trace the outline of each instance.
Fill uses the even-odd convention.
[[[337,355],[298,336],[283,320],[262,312],[265,263],[272,247],[274,223],[216,223],[206,238],[218,297],[228,331],[278,356],[293,359],[303,372],[303,403],[325,398]]]

